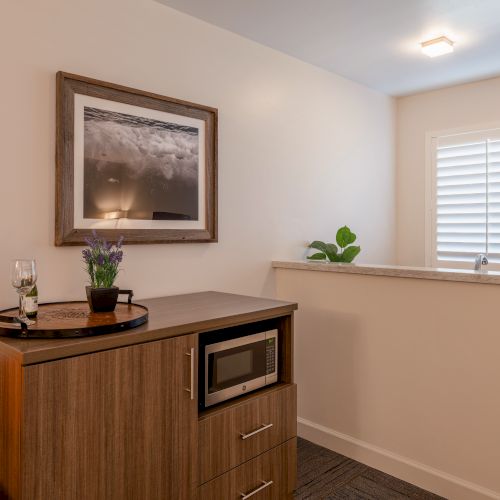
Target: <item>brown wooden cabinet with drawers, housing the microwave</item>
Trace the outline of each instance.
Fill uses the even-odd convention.
[[[126,332],[0,337],[0,499],[225,500],[266,478],[255,498],[287,498],[296,304],[217,292],[141,303],[149,322]],[[199,335],[267,319],[280,325],[280,383],[200,416]]]

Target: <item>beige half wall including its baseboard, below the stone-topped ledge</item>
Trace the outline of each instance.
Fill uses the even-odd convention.
[[[451,499],[500,498],[500,287],[277,269],[300,434]]]

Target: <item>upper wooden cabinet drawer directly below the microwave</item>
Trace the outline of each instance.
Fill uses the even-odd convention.
[[[297,388],[277,388],[200,421],[203,484],[297,435]]]

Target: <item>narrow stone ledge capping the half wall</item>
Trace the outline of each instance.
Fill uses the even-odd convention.
[[[330,273],[365,274],[391,276],[395,278],[416,278],[440,281],[462,281],[500,285],[500,272],[474,271],[469,269],[447,269],[439,267],[409,267],[372,264],[338,264],[324,261],[290,260],[272,262],[276,269],[298,269],[301,271],[323,271]]]

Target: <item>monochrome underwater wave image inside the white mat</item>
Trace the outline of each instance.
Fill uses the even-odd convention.
[[[84,107],[85,219],[198,220],[199,130]]]

